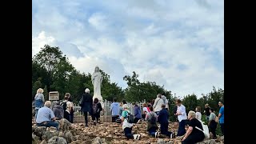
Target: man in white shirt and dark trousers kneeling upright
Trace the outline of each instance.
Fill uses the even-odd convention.
[[[186,134],[185,126],[186,126],[186,107],[182,105],[182,101],[180,99],[176,100],[177,112],[175,115],[178,115],[178,134],[177,136],[182,136]]]

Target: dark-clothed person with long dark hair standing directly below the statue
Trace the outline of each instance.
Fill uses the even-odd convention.
[[[98,98],[94,98],[94,103],[91,111],[91,117],[94,121],[94,126],[96,126],[96,122],[99,123],[98,118],[100,118],[101,111],[102,111],[102,104],[98,102]]]

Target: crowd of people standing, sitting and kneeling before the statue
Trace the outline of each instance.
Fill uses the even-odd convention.
[[[43,90],[39,88],[34,97],[35,121],[38,126],[54,126],[58,130],[58,121],[56,120],[62,118],[66,118],[69,122],[73,123],[74,105],[70,93],[65,94],[64,101],[61,103],[45,102],[42,93]],[[154,100],[144,103],[142,110],[138,104],[133,103],[133,113],[129,110],[126,100],[117,102],[117,98],[114,98],[110,106],[112,122],[122,123],[122,130],[124,130],[124,134],[128,139],[140,139],[140,134],[132,133],[132,127],[134,124],[146,121],[148,134],[155,138],[163,134],[170,138],[182,137],[183,144],[201,142],[205,138],[202,127],[201,107],[197,106],[195,110],[190,110],[189,113],[186,114],[186,106],[182,105],[180,99],[177,99],[175,104],[174,115],[178,120],[177,134],[169,131],[168,128],[170,106],[164,93],[157,94]],[[98,102],[98,98],[93,99],[88,88],[86,88],[85,93],[82,94],[79,105],[85,117],[85,126],[88,126],[88,115],[92,117],[94,125],[100,122],[99,118],[102,105]],[[214,109],[210,108],[208,104],[205,105],[203,111],[206,115],[207,126],[214,138],[217,138],[216,128],[218,124],[224,135],[224,103],[218,102],[218,106],[220,107],[218,115],[215,114]],[[188,126],[187,130],[186,126]]]

